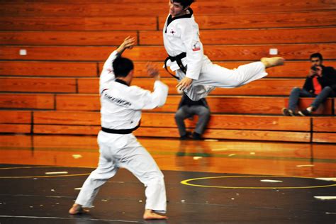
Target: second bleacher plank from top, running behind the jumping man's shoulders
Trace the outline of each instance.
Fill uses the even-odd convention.
[[[201,29],[320,27],[335,26],[336,18],[334,15],[335,11],[252,14],[228,13],[220,16],[203,16],[196,14],[196,22]],[[167,16],[159,17],[159,29],[162,30],[166,19]]]

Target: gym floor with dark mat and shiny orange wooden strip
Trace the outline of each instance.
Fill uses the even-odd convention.
[[[98,162],[94,136],[0,135],[0,223],[336,223],[336,145],[140,138],[163,170],[167,221],[142,220],[125,169],[67,213]]]

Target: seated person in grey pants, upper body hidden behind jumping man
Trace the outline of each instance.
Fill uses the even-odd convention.
[[[194,115],[198,116],[198,122],[194,133],[192,134],[192,138],[194,140],[201,140],[201,136],[206,129],[206,125],[208,124],[210,118],[208,103],[204,98],[200,99],[199,101],[192,101],[188,96],[186,96],[186,94],[183,94],[179,103],[179,109],[175,114],[175,121],[177,123],[177,127],[179,128],[179,135],[181,136],[181,140],[186,140],[189,138],[190,134],[186,131],[184,119],[191,118]]]

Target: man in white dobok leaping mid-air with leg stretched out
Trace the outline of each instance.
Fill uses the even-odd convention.
[[[198,24],[190,5],[194,0],[169,0],[169,16],[164,24],[164,47],[169,55],[164,67],[170,67],[179,79],[177,88],[189,99],[205,98],[215,87],[235,88],[267,76],[265,69],[284,65],[282,57],[264,57],[259,62],[226,69],[214,65],[203,54]],[[168,69],[167,69],[168,71]]]

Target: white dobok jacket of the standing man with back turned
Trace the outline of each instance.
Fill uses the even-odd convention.
[[[103,65],[99,80],[101,99],[101,126],[121,130],[135,128],[141,119],[142,109],[163,106],[168,95],[168,86],[155,81],[154,91],[128,86],[113,73],[112,63],[118,57],[114,51]]]

